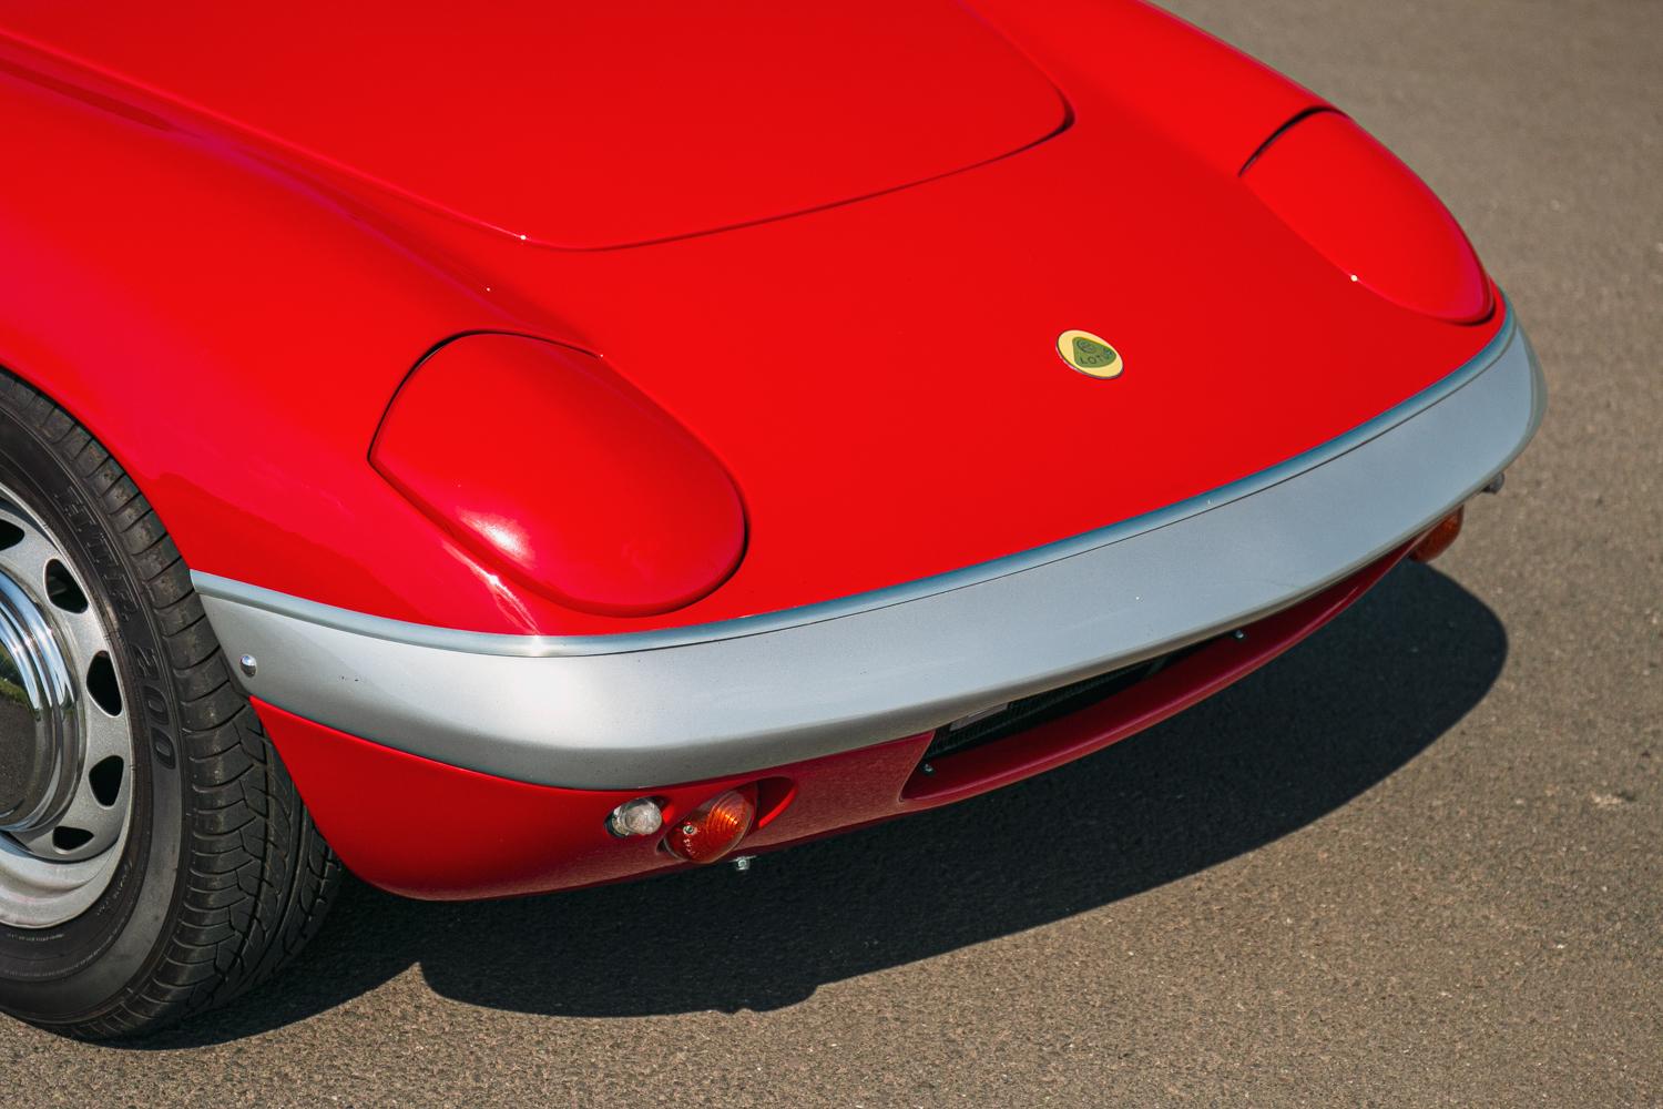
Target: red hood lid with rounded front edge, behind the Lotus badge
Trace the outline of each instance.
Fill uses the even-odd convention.
[[[602,248],[883,193],[1058,131],[950,0],[125,0],[0,28],[527,239]]]

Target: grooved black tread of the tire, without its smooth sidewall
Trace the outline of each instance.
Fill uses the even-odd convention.
[[[0,372],[0,402],[30,419],[80,477],[148,602],[180,708],[188,828],[160,956],[96,1016],[57,1026],[91,1039],[150,1033],[271,978],[316,934],[343,868],[233,683],[190,569],[138,485],[75,419],[10,372]]]

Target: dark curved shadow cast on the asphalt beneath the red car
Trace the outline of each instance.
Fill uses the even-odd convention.
[[[349,881],[278,981],[128,1046],[281,1028],[412,964],[442,996],[547,1016],[790,1006],[823,983],[1094,909],[1309,825],[1443,735],[1505,657],[1483,602],[1405,565],[1164,725],[1008,790],[765,856],[747,875],[718,866],[481,904]]]

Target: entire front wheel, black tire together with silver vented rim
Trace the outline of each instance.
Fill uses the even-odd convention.
[[[294,956],[341,865],[155,510],[86,429],[5,371],[0,500],[0,625],[38,615],[55,647],[13,638],[13,652],[58,650],[20,662],[0,643],[13,698],[0,705],[0,1009],[78,1038],[150,1033]],[[30,667],[58,663],[65,703],[32,713],[23,687],[48,700],[53,687],[30,685]]]

